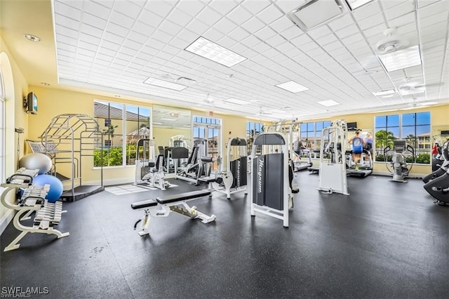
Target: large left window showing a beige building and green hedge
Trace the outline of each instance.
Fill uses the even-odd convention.
[[[149,107],[94,101],[94,117],[104,134],[103,154],[95,152],[94,166],[134,165],[136,144],[139,139],[150,138]]]

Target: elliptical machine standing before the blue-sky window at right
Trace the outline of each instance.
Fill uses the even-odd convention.
[[[412,170],[413,161],[415,161],[415,149],[406,144],[406,140],[394,140],[393,142],[394,153],[391,156],[391,161],[387,161],[387,154],[391,151],[391,147],[388,145],[384,148],[385,166],[393,178],[391,182],[407,182],[405,180],[408,174]],[[407,163],[406,156],[412,155],[413,159],[411,163]]]

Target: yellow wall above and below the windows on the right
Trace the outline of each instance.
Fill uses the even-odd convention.
[[[376,112],[376,113],[361,113],[361,114],[344,114],[339,117],[327,117],[323,119],[314,119],[310,121],[333,121],[335,119],[344,119],[347,122],[357,122],[358,128],[367,128],[374,130],[374,119],[380,115],[390,114],[406,114],[415,112],[431,112],[431,127],[449,126],[448,115],[449,105],[431,106],[431,107],[417,107],[416,109],[396,110],[390,112]],[[302,122],[309,122],[304,119]],[[374,132],[373,132],[374,133]],[[314,164],[318,164],[319,160],[314,160]],[[387,174],[388,170],[384,162],[374,163],[374,172],[380,174]],[[430,165],[414,165],[411,171],[412,175],[421,176],[431,173]]]

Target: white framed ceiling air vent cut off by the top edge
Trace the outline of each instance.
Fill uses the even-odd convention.
[[[307,32],[314,27],[326,24],[348,11],[349,8],[345,1],[311,0],[295,10],[290,11],[290,13],[287,13],[287,16],[302,31]]]

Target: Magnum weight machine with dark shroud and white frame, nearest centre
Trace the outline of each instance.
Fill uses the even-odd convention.
[[[256,157],[257,146],[262,152]],[[257,135],[250,159],[251,216],[263,213],[283,220],[283,226],[288,227],[288,210],[293,208],[293,194],[299,190],[291,185],[293,169],[286,137],[277,132]]]

